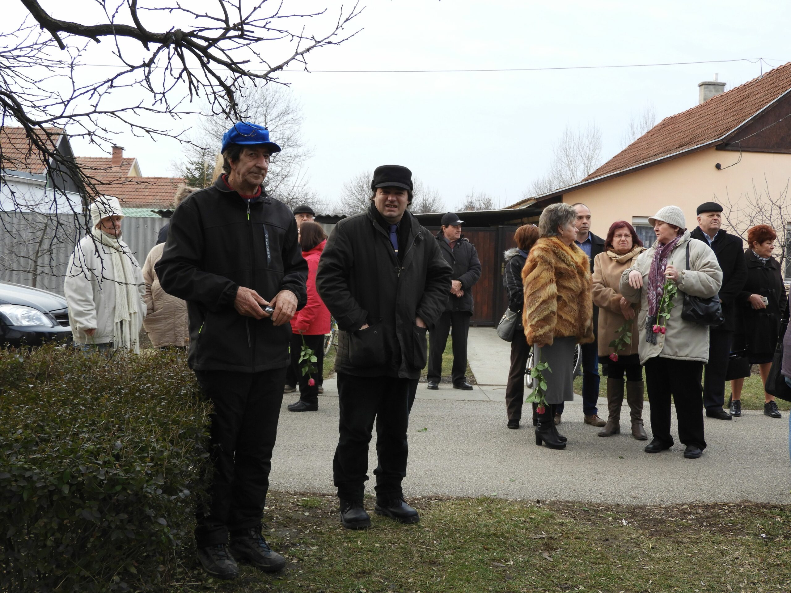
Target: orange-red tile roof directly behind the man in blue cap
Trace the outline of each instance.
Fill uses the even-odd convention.
[[[134,158],[123,158],[118,167],[111,157],[77,157],[77,162],[101,193],[114,195],[127,208],[172,208],[176,189],[186,183],[181,177],[129,176]]]

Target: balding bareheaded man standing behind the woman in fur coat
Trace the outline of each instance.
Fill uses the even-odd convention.
[[[577,210],[577,240],[574,241],[577,247],[585,251],[591,264],[593,273],[593,259],[604,251],[604,239],[594,235],[591,229],[591,211],[585,204],[573,204],[573,209]],[[592,296],[591,296],[592,298]],[[590,344],[580,346],[582,353],[582,412],[585,414],[585,424],[592,426],[604,426],[607,424],[599,417],[599,409],[596,408],[596,401],[599,399],[599,346],[598,346],[598,327],[599,327],[599,308],[593,306],[593,333],[597,339]],[[554,423],[560,424],[560,415],[563,413],[563,404],[560,404],[554,417]]]

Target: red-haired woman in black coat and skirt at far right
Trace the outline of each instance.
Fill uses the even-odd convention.
[[[772,366],[774,348],[778,345],[780,316],[785,309],[786,296],[780,263],[772,257],[774,240],[777,238],[778,234],[770,225],[757,225],[747,231],[747,251],[744,251],[747,282],[736,296],[736,307],[741,316],[741,339],[737,336],[734,341],[746,347],[747,357],[741,363],[732,362],[729,365],[732,391],[729,406],[732,416],[741,416],[741,391],[744,377],[750,375],[750,364],[759,365],[761,381],[765,384]],[[764,391],[763,397],[763,413],[773,418],[782,417],[774,396]]]

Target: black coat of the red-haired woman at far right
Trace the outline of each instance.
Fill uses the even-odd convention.
[[[736,295],[736,310],[740,315],[740,331],[737,333],[740,335],[733,349],[746,347],[749,358],[771,359],[778,345],[780,315],[785,310],[786,300],[780,264],[774,258],[762,263],[751,249],[744,251],[744,261],[747,263],[747,281]],[[751,294],[766,296],[769,304],[765,309],[752,308]]]

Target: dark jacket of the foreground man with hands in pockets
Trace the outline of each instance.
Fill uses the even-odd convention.
[[[452,270],[411,213],[399,223],[398,257],[386,224],[373,205],[339,221],[321,255],[316,289],[340,330],[335,371],[418,379],[426,366],[426,328],[414,320],[433,329],[445,311]]]

